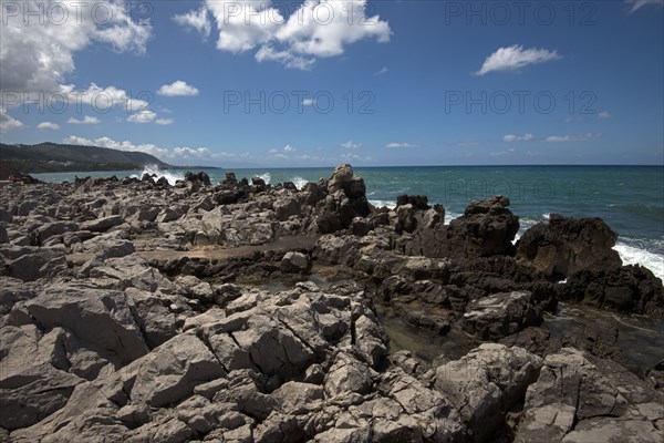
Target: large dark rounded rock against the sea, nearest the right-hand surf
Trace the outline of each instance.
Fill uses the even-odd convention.
[[[601,218],[551,214],[549,223],[535,225],[519,239],[517,259],[560,280],[578,270],[622,265],[612,249],[616,239]]]

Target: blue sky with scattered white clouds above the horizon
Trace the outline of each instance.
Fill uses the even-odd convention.
[[[664,165],[664,0],[9,1],[0,138],[177,165]]]

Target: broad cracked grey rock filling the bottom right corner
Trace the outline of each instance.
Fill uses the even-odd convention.
[[[515,441],[662,441],[663,401],[618,363],[563,348],[528,388]]]

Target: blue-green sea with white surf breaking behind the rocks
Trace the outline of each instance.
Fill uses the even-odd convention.
[[[196,169],[198,172],[199,169]],[[212,183],[230,169],[203,169]],[[402,194],[426,195],[430,205],[445,207],[446,223],[460,216],[471,200],[505,195],[520,218],[518,236],[550,214],[571,217],[601,217],[619,240],[614,249],[625,265],[647,267],[664,281],[664,166],[416,166],[356,167],[366,184],[369,200],[394,207]],[[234,169],[241,177],[261,177],[276,185],[292,182],[302,188],[308,182],[329,178],[333,167]],[[33,174],[44,182],[74,177],[164,176],[175,184],[184,171],[143,171]],[[518,238],[518,237],[517,237]]]

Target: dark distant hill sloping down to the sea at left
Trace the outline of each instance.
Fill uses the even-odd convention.
[[[39,145],[0,143],[0,161],[4,164],[11,164],[14,169],[25,174],[143,169],[146,165],[156,165],[163,169],[176,168],[176,166],[164,163],[154,155],[141,152],[56,143],[41,143]]]

